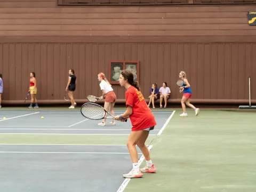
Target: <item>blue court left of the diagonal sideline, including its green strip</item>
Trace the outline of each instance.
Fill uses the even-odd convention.
[[[158,125],[148,142],[172,114],[155,111]],[[1,110],[0,116],[1,191],[117,191],[131,169],[130,121],[102,127],[78,110]]]

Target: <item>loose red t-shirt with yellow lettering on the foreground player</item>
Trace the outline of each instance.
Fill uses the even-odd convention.
[[[130,119],[132,131],[147,129],[156,125],[156,120],[149,109],[142,93],[134,86],[130,86],[125,92],[126,106],[132,107]]]

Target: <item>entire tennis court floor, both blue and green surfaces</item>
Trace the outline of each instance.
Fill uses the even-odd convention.
[[[255,111],[202,109],[180,117],[181,109],[173,110],[154,110],[158,125],[147,145],[157,173],[131,180],[122,177],[131,169],[130,122],[98,127],[78,110],[1,110],[0,190],[256,190]]]

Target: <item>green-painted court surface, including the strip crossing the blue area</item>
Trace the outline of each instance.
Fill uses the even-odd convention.
[[[188,117],[179,116],[180,108],[169,110],[175,110],[175,114],[163,133],[150,135],[147,142],[152,141],[151,158],[157,173],[131,179],[125,192],[256,191],[256,110],[202,108],[195,116],[188,109]],[[125,145],[127,138],[128,135],[0,134],[0,143]]]

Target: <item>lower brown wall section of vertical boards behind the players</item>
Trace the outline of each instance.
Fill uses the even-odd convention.
[[[247,99],[247,77],[251,75],[253,82],[255,70],[255,43],[11,43],[0,47],[5,100],[23,99],[31,71],[37,75],[38,99],[62,99],[69,68],[76,71],[77,99],[100,95],[97,74],[103,71],[108,77],[108,62],[113,58],[140,61],[145,97],[151,83],[160,87],[166,81],[171,98],[180,98],[175,82],[179,71],[185,70],[194,99]],[[113,88],[118,99],[123,99],[124,89]]]

